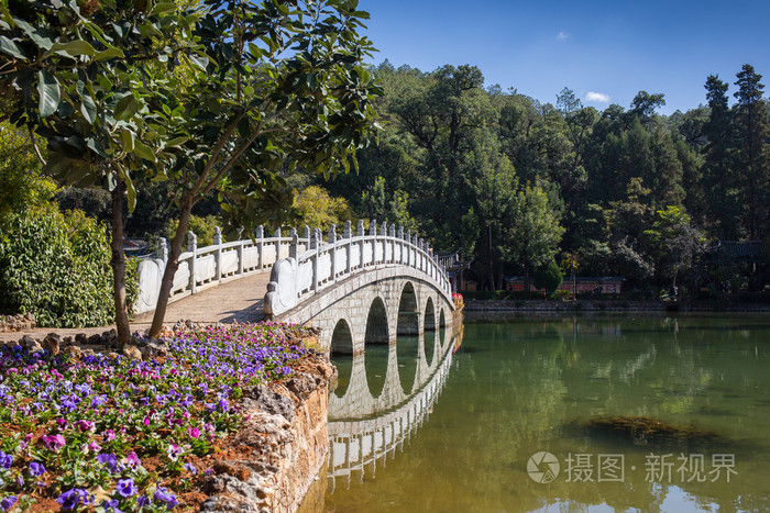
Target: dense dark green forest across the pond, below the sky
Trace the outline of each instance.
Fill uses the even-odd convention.
[[[707,77],[707,103],[668,116],[661,93],[598,111],[564,88],[541,103],[485,88],[473,66],[385,62],[375,76],[382,131],[359,174],[289,181],[461,250],[485,289],[554,259],[629,287],[707,286],[714,241],[768,238],[768,102],[750,65],[734,86]]]

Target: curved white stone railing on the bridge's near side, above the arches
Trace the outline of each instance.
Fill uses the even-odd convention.
[[[295,235],[288,258],[273,266],[264,301],[265,313],[279,315],[340,280],[383,266],[406,266],[418,270],[422,279],[431,281],[452,304],[451,286],[438,257],[425,241],[413,236],[409,231],[404,233],[403,226],[396,234],[394,224],[388,227],[387,223],[382,223],[377,234],[377,223],[372,221],[366,235],[364,222],[359,221],[353,236],[348,221],[341,238],[332,225],[328,243],[322,242],[321,231],[317,228],[310,234],[307,250],[300,253],[300,246]]]

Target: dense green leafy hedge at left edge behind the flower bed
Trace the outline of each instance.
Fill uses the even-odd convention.
[[[53,208],[9,218],[0,239],[0,309],[33,313],[40,326],[85,327],[114,322],[110,239],[82,212]],[[135,300],[138,277],[127,274]]]

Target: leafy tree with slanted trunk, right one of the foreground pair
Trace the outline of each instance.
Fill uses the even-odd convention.
[[[189,133],[172,178],[185,192],[151,336],[163,324],[193,205],[219,191],[233,231],[279,225],[292,204],[282,175],[349,170],[381,92],[363,66],[373,48],[356,32],[369,18],[358,0],[206,7],[195,33],[207,62],[189,68],[173,108]]]

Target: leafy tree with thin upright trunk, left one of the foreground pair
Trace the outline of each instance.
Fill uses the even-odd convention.
[[[3,2],[0,14],[0,90],[10,122],[29,129],[33,146],[33,132],[47,143],[46,174],[111,191],[116,321],[125,343],[123,194],[133,209],[135,178],[158,174],[180,141],[176,123],[155,111],[173,91],[148,64],[194,57],[195,16],[173,3],[123,0]]]

